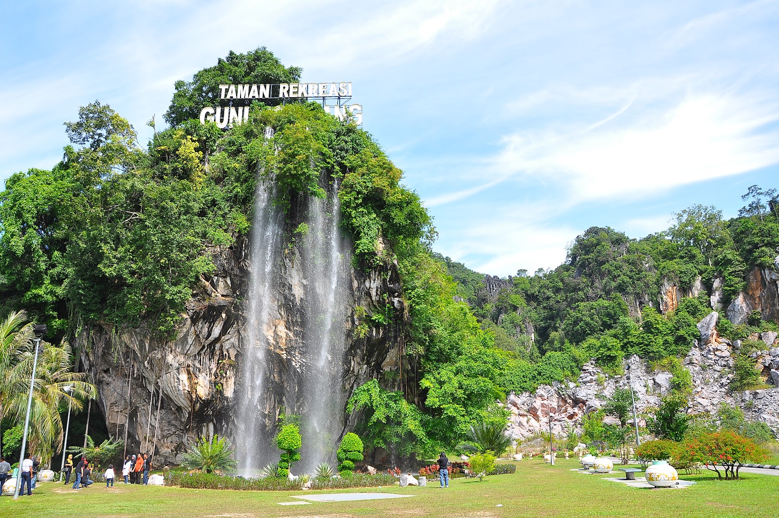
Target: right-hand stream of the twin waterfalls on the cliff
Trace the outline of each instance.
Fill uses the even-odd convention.
[[[344,322],[349,307],[348,254],[340,236],[338,183],[326,200],[312,198],[303,250],[309,279],[305,304],[305,409],[301,415],[301,469],[309,473],[322,462],[335,462],[344,423]]]

